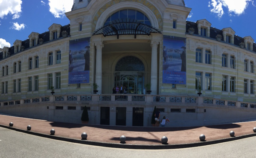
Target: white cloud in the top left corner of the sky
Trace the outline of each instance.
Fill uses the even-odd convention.
[[[21,12],[21,0],[0,0],[0,18],[12,14],[12,19],[20,17]]]

